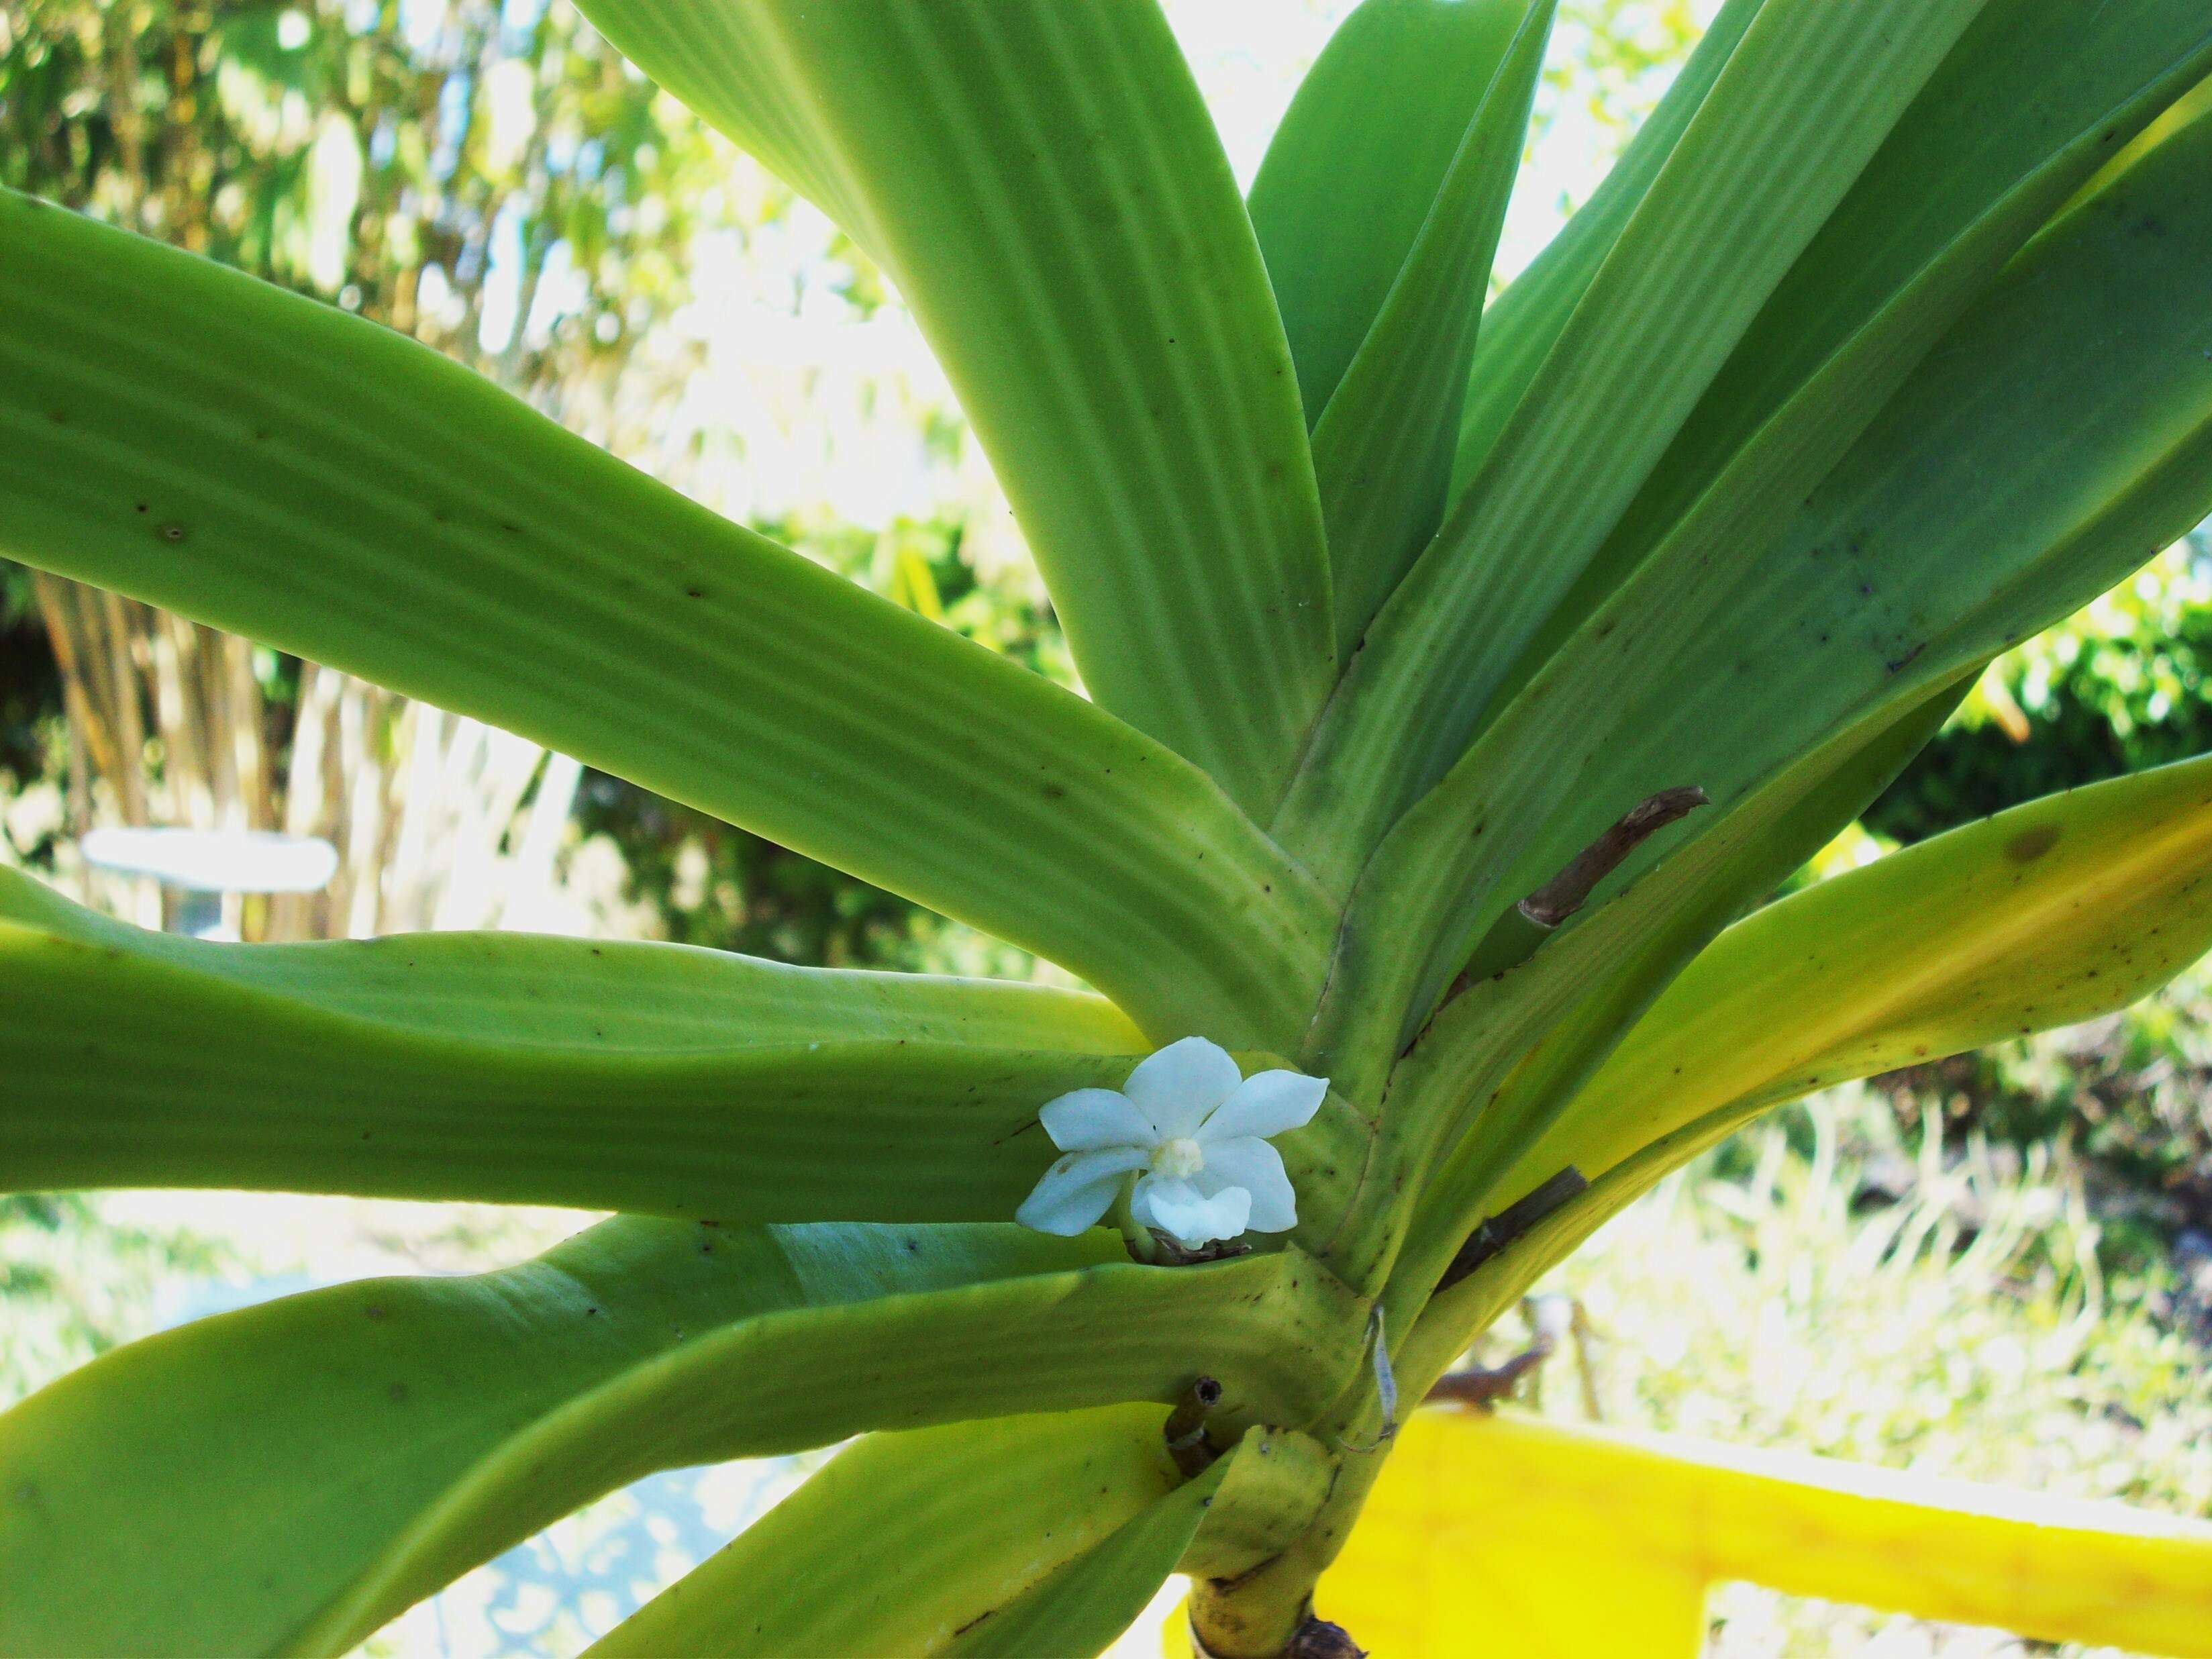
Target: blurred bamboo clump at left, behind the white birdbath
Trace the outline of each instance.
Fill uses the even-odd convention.
[[[611,445],[670,385],[637,343],[688,294],[719,173],[566,7],[0,4],[0,181],[414,334]],[[66,701],[60,807],[11,841],[44,832],[80,896],[159,925],[155,894],[69,867],[93,825],[159,823],[336,845],[327,894],[230,900],[248,938],[542,909],[573,765],[148,606],[11,588]]]

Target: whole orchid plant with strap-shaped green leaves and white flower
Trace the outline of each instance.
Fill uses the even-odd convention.
[[[1608,1214],[2212,945],[2212,761],[1765,902],[2212,507],[2203,0],[1728,0],[1489,303],[1553,0],[1367,0],[1248,197],[1152,0],[582,9],[898,285],[1088,697],[27,197],[0,551],[1091,989],[0,872],[4,1186],[619,1212],[0,1416],[0,1650],[343,1652],[646,1471],[863,1436],[595,1652],[1091,1655],[1177,1568],[1206,1652],[1340,1652],[1405,1402]]]

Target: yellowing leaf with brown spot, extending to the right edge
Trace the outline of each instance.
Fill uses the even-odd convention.
[[[2059,858],[2055,849],[2068,841],[2070,852]],[[1874,880],[1860,883],[1860,874]],[[1473,1332],[1641,1192],[1785,1099],[2126,1006],[2212,945],[2208,878],[2212,759],[2201,759],[2033,801],[1856,872],[1849,885],[1838,876],[1840,891],[1818,907],[1801,905],[1829,883],[1741,922],[1741,933],[1717,940],[1710,967],[1692,964],[1694,978],[1683,975],[1690,984],[1679,998],[1670,987],[1652,1006],[1648,1033],[1639,1024],[1588,1088],[1548,1119],[1551,1133],[1522,1141],[1526,1150],[1511,1168],[1509,1159],[1486,1170],[1453,1161],[1460,1232],[1447,1228],[1438,1237],[1431,1212],[1425,1265],[1440,1265],[1475,1214],[1504,1208],[1544,1172],[1566,1166],[1555,1159],[1595,1179],[1506,1254],[1429,1301],[1405,1360],[1413,1371],[1447,1365]],[[1878,920],[1869,922],[1860,902],[1876,905]],[[1913,905],[1927,905],[1927,914]],[[1798,933],[1807,920],[1847,927],[1832,945]],[[1991,931],[1980,938],[1975,929]],[[1900,975],[1893,998],[1869,984],[1889,940],[1902,947],[1882,956],[1882,969]],[[1728,956],[1719,956],[1723,945]],[[1916,947],[1916,964],[1900,969]],[[1761,958],[1730,962],[1739,949],[1759,949]],[[1741,982],[1717,991],[1717,980],[1734,971],[1774,975],[1754,982],[1783,998],[1761,1004],[1765,1024],[1743,1006]],[[1854,991],[1856,1002],[1834,1020],[1805,1002]],[[1750,1035],[1752,1026],[1761,1037],[1778,1035],[1776,1006],[1803,1013],[1803,1044]],[[1705,1024],[1708,1011],[1714,1024]],[[1743,1071],[1734,1068],[1732,1048],[1699,1042],[1728,1024],[1725,1042],[1752,1048]],[[1705,1088],[1697,1066],[1712,1068],[1714,1088]],[[1407,1274],[1409,1290],[1413,1281]]]

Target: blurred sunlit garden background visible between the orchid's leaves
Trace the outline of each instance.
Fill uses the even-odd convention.
[[[1250,9],[1168,0],[1245,177],[1347,9],[1283,0],[1281,38],[1254,44]],[[1564,0],[1502,270],[1586,199],[1710,13],[1712,0]],[[896,294],[564,0],[0,0],[0,181],[405,330],[710,507],[1075,684]],[[135,664],[142,730],[122,748],[161,816],[181,812],[170,779],[188,754],[164,723],[166,635],[135,613],[126,637],[153,644]],[[217,650],[206,633],[192,648]],[[51,602],[0,564],[0,860],[82,880],[75,836],[122,801],[71,719],[55,637]],[[285,814],[316,670],[268,650],[223,664],[250,681],[257,812],[316,827]],[[2002,657],[1805,878],[2212,750],[2208,666],[2199,533]],[[407,745],[449,757],[491,739],[369,688],[343,697],[358,730],[325,794],[385,803],[356,858],[378,902],[303,931],[484,920],[398,902],[422,883],[396,849],[418,770]],[[338,721],[338,701],[314,719]],[[531,752],[504,816],[478,814],[487,858],[531,843],[551,860],[542,902],[493,920],[792,962],[1048,973],[617,779],[562,785],[555,763]],[[538,816],[560,834],[531,841],[546,803],[560,812]],[[128,894],[91,896],[128,909]],[[380,1234],[385,1254],[312,1272],[489,1263],[573,1221],[478,1212],[429,1256],[427,1221],[380,1221],[409,1243]],[[0,1400],[173,1318],[161,1298],[181,1281],[303,1261],[135,1199],[0,1199]],[[2190,975],[2115,1020],[1792,1108],[1639,1206],[1559,1283],[1601,1332],[1593,1391],[1608,1416],[2212,1513],[2212,984]],[[1588,1400],[1555,1376],[1542,1405]],[[1843,1632],[1871,1630],[1756,1599],[1723,1615],[1730,1655],[1843,1652]]]

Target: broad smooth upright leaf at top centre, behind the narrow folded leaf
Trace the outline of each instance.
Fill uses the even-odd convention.
[[[1267,142],[1245,206],[1310,427],[1380,316],[1526,9],[1365,0]]]

